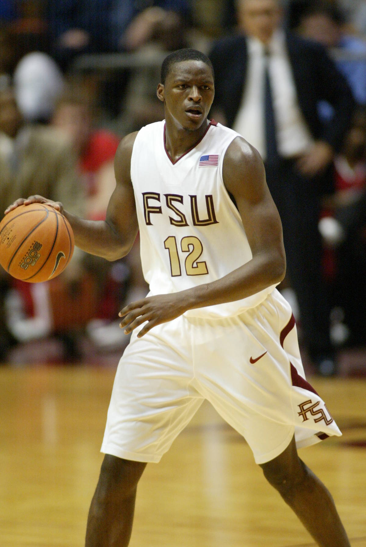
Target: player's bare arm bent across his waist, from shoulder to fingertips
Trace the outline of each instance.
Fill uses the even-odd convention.
[[[236,201],[252,259],[217,281],[132,302],[120,313],[127,333],[148,321],[141,336],[187,310],[240,300],[282,281],[286,258],[280,216],[265,181],[262,159],[242,138],[236,138],[226,151],[223,180]]]

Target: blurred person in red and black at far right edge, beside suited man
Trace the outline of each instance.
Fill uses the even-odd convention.
[[[319,229],[334,249],[333,304],[344,311],[348,344],[366,343],[366,110],[358,109],[335,161],[335,194]],[[332,214],[332,216],[329,216]],[[342,340],[339,340],[342,341]]]

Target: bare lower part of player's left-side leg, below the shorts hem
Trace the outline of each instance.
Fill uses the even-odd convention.
[[[85,547],[127,547],[132,532],[137,483],[145,462],[106,455],[92,498]]]

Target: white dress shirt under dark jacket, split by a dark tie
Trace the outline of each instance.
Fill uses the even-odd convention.
[[[247,38],[247,44],[247,79],[233,129],[265,160],[264,45],[256,38]],[[291,158],[309,150],[313,139],[299,108],[283,31],[275,32],[267,49],[278,152]]]

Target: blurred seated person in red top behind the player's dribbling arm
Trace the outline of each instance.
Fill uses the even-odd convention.
[[[65,132],[78,155],[79,170],[85,183],[86,216],[92,220],[106,218],[106,210],[115,188],[114,155],[119,138],[111,131],[94,127],[94,108],[88,92],[72,85],[57,102],[53,125]],[[98,304],[87,331],[94,344],[104,350],[120,346],[128,339],[119,328],[117,317],[126,298],[143,298],[147,285],[143,280],[138,241],[129,257],[110,264],[85,255],[84,264],[97,282]],[[136,298],[135,298],[136,297]]]

